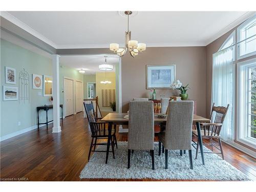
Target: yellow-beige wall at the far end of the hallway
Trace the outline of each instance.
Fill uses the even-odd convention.
[[[110,84],[102,84],[100,81],[108,80],[111,81]],[[112,111],[110,107],[102,106],[102,89],[114,89],[116,90],[116,73],[115,72],[107,72],[105,78],[105,72],[96,73],[96,95],[99,98],[99,108],[101,111]]]

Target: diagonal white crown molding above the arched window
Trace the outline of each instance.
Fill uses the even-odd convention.
[[[251,17],[254,14],[256,14],[255,11],[248,11],[248,12],[246,12],[241,17],[239,17],[238,19],[234,20],[234,22],[232,22],[231,24],[226,26],[224,29],[222,29],[221,31],[216,33],[214,36],[209,38],[207,41],[205,41],[205,46],[209,45],[212,41],[215,41],[216,39],[218,39],[219,37],[221,37],[222,35],[224,35],[228,31],[230,31],[234,27],[237,27],[238,25],[242,24],[246,19],[248,19],[249,17]]]

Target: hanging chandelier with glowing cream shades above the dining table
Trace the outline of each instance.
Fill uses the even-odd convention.
[[[125,31],[125,47],[119,48],[119,44],[110,44],[110,50],[122,57],[127,50],[129,50],[132,57],[142,53],[142,51],[146,50],[146,44],[139,43],[137,40],[131,40],[131,31],[129,31],[129,15],[131,15],[132,11],[125,11],[124,14],[127,15],[128,27],[127,31]]]

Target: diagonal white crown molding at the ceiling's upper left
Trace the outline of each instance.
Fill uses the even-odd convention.
[[[44,35],[38,33],[37,31],[35,31],[34,29],[29,27],[28,25],[26,25],[22,21],[20,21],[16,17],[14,17],[12,14],[8,13],[7,11],[1,11],[1,16],[4,17],[5,19],[9,20],[9,22],[13,23],[14,25],[18,26],[19,28],[27,31],[31,35],[37,37],[38,39],[40,39],[44,42],[46,42],[46,44],[52,46],[55,49],[57,48],[57,45],[53,41],[49,40]]]

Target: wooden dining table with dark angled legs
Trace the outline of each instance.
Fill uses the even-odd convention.
[[[128,125],[129,124],[129,119],[124,118],[124,116],[127,115],[127,113],[109,113],[105,117],[101,119],[101,121],[104,121],[108,123],[108,144],[106,147],[106,160],[105,163],[108,163],[108,158],[109,158],[109,151],[110,151],[110,141],[111,141],[111,132],[112,132],[112,125]],[[158,118],[157,114],[154,115],[154,123],[155,125],[160,125],[160,124],[165,124],[167,118]],[[209,123],[210,119],[201,117],[199,115],[194,115],[193,116],[193,124],[196,125],[197,128],[197,133],[198,133],[198,142],[199,142],[199,147],[200,147],[200,152],[201,152],[201,157],[202,157],[202,162],[204,165],[204,153],[203,153],[203,142],[202,142],[202,137],[201,137],[201,130],[200,130],[200,123]]]

